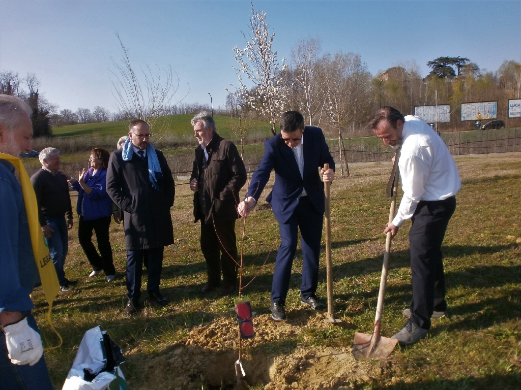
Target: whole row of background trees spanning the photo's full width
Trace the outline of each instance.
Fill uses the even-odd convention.
[[[519,118],[506,119],[508,99],[521,97],[521,63],[504,61],[495,71],[481,70],[465,57],[438,57],[429,61],[431,72],[421,77],[415,61],[396,63],[376,76],[356,53],[322,53],[320,39],[301,40],[279,63],[272,48],[275,33],[270,30],[264,11],[255,11],[252,3],[250,31],[243,33],[246,47],[233,47],[238,83],[230,84],[225,107],[216,114],[239,117],[238,125],[230,125],[241,141],[250,131],[253,119],[269,123],[272,134],[280,113],[299,110],[306,123],[319,126],[330,134],[359,136],[370,133],[366,124],[382,106],[393,106],[404,115],[414,114],[415,106],[443,105],[451,107],[451,122],[441,129],[472,126],[461,121],[461,103],[498,100],[498,118],[508,125],[520,125]],[[97,106],[93,111],[78,108],[57,112],[39,93],[40,82],[33,73],[21,78],[18,73],[0,73],[0,93],[22,97],[33,109],[34,135],[50,135],[51,125],[120,121],[139,118],[154,127],[159,116],[210,111],[208,105],[186,103],[176,97],[180,80],[170,66],[145,66],[135,71],[129,51],[116,34],[122,55],[113,59],[113,94],[117,112]],[[168,121],[154,128],[157,136],[166,133]]]

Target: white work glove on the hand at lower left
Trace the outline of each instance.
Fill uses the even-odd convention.
[[[4,327],[8,356],[15,365],[34,366],[43,355],[40,334],[27,323],[27,318]]]

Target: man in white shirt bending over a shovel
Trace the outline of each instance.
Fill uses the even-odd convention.
[[[446,313],[441,243],[456,208],[460,174],[441,137],[417,116],[404,117],[392,107],[382,107],[370,126],[384,144],[401,148],[398,166],[403,198],[383,232],[394,237],[406,219],[412,220],[413,298],[410,310],[404,310],[410,319],[392,338],[401,345],[413,344],[427,335],[431,317]]]

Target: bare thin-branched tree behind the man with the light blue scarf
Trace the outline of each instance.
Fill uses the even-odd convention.
[[[160,138],[166,132],[168,121],[162,121],[161,128],[155,128],[155,124],[159,116],[175,106],[172,103],[179,88],[179,76],[169,65],[165,68],[146,65],[140,68],[142,74],[138,77],[130,62],[128,49],[123,45],[119,34],[116,36],[123,53],[118,62],[112,59],[115,70],[111,71],[114,75],[111,82],[119,116],[146,121],[155,137]]]

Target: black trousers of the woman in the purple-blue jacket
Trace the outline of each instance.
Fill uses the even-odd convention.
[[[85,220],[80,215],[78,223],[78,241],[92,269],[99,271],[103,269],[105,276],[116,275],[114,268],[112,248],[110,246],[110,237],[108,228],[110,226],[110,216],[97,219]],[[100,253],[98,254],[94,244],[92,243],[92,230],[96,234],[97,247]]]

